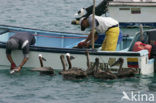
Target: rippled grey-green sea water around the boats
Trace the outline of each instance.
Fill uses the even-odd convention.
[[[91,4],[92,0],[0,0],[0,24],[84,33],[79,26],[71,25],[71,21],[77,10]],[[134,35],[139,29],[121,30]],[[64,80],[57,72],[55,76],[43,76],[23,68],[20,73],[10,75],[9,68],[1,67],[0,103],[155,103],[149,101],[151,96],[156,101],[155,75],[116,80],[92,77]],[[131,101],[122,100],[123,93],[131,97]],[[139,102],[142,95],[147,98]]]

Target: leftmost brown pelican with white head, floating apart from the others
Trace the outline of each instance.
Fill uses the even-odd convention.
[[[39,54],[39,61],[40,61],[40,66],[39,68],[34,68],[32,71],[38,71],[41,74],[46,74],[46,75],[53,75],[54,74],[54,69],[51,67],[44,67],[43,66],[43,60],[46,61],[45,58],[42,57],[42,54]]]

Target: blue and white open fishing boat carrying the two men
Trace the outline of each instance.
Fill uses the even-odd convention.
[[[155,32],[156,30],[154,30]],[[90,61],[93,64],[95,58],[100,59],[100,65],[108,64],[110,70],[117,72],[119,66],[111,65],[119,58],[122,58],[123,68],[135,68],[140,74],[154,73],[154,58],[148,57],[147,50],[139,52],[133,51],[133,46],[136,41],[139,41],[140,34],[138,33],[133,37],[123,37],[122,41],[118,44],[116,51],[101,51],[99,46],[95,49],[91,48],[75,48],[79,42],[83,41],[87,35],[46,31],[31,28],[15,27],[8,25],[0,25],[0,66],[9,68],[5,54],[6,42],[8,38],[15,34],[15,32],[32,32],[36,38],[36,44],[30,47],[30,57],[24,67],[38,67],[40,65],[38,55],[42,54],[47,60],[45,66],[53,67],[54,69],[62,69],[60,55],[70,53],[76,59],[72,60],[73,66],[87,69],[86,50],[90,53]],[[147,37],[148,32],[144,33]],[[96,45],[96,44],[95,44]],[[12,57],[16,64],[19,64],[23,59],[23,54],[20,50],[12,51]]]

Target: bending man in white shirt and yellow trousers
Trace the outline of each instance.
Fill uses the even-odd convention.
[[[80,21],[81,30],[84,31],[86,28],[92,28],[92,15],[88,18],[83,18]],[[100,17],[95,16],[95,41],[98,39],[98,36],[105,35],[105,39],[102,43],[103,51],[115,51],[118,36],[120,33],[119,23],[111,17]],[[84,42],[78,44],[78,47],[86,46],[88,47],[91,44],[91,35],[88,35],[87,39]]]

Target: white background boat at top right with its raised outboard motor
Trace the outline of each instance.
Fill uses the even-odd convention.
[[[72,24],[92,14],[92,6],[82,8],[75,15]],[[95,14],[112,17],[119,21],[120,27],[156,27],[156,0],[103,0],[96,6]]]

